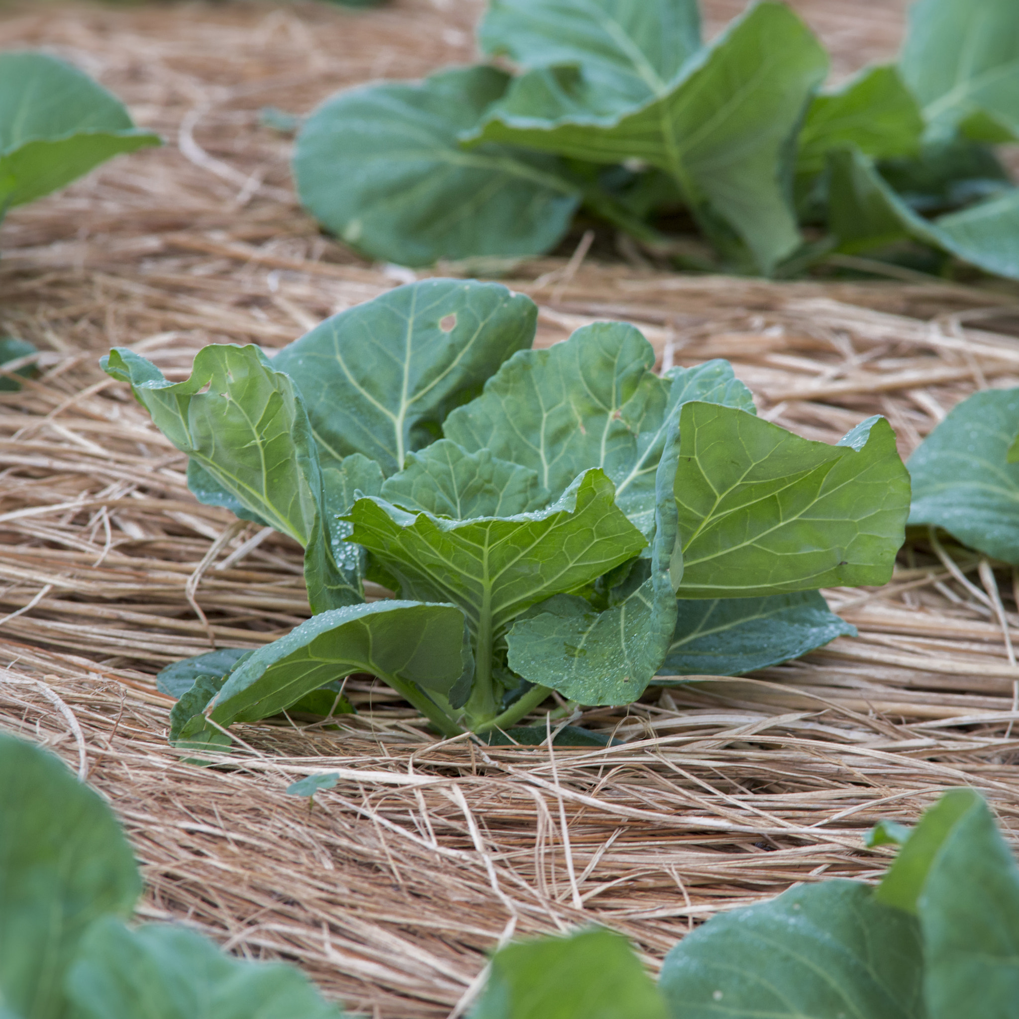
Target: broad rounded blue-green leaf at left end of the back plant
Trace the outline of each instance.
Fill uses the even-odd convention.
[[[298,135],[303,205],[347,244],[400,265],[548,251],[580,203],[560,162],[503,145],[465,152],[458,142],[507,81],[494,67],[467,67],[326,100]]]

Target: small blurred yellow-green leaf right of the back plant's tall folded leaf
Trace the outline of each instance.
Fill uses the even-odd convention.
[[[874,159],[919,151],[923,117],[893,66],[868,67],[810,104],[799,137],[796,171],[820,173],[827,153],[854,148]]]

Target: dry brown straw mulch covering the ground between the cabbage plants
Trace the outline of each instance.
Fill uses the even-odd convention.
[[[801,6],[843,71],[895,49],[898,6]],[[586,712],[625,741],[610,749],[439,744],[364,678],[347,685],[360,713],[337,728],[238,727],[229,768],[167,746],[154,674],[305,619],[300,549],[199,505],[183,458],[97,356],[131,345],[182,377],[205,343],[280,346],[409,278],[318,235],[288,186],[288,141],[258,110],[466,59],[477,9],[0,15],[0,45],[78,61],[169,143],[3,226],[0,322],[44,353],[37,380],[0,395],[0,726],[109,798],[145,869],[145,916],[296,960],[393,1019],[466,1004],[484,954],[512,935],[604,923],[654,967],[719,909],[873,878],[888,854],[865,850],[864,830],[915,818],[946,787],[977,787],[1019,828],[1013,577],[959,550],[953,573],[922,544],[888,588],[828,592],[858,639]],[[908,453],[961,397],[1019,384],[1015,287],[680,277],[625,245],[614,256],[602,234],[571,258],[579,234],[508,280],[540,303],[541,343],[632,321],[666,365],[730,358],[761,414],[810,438],[880,413]],[[341,779],[313,808],[284,794],[328,770]]]

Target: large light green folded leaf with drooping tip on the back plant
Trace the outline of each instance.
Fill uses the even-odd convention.
[[[643,160],[677,180],[716,239],[742,238],[769,271],[800,245],[789,201],[790,148],[826,68],[803,22],[785,4],[765,0],[689,61],[666,92],[636,109],[585,113],[595,95],[573,97],[556,111],[549,103],[562,83],[556,93],[546,71],[533,71],[542,75],[541,88],[521,79],[464,138],[595,163]]]

